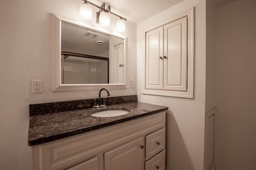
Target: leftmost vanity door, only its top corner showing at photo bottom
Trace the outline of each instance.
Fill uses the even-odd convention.
[[[72,166],[66,170],[99,170],[98,156]]]

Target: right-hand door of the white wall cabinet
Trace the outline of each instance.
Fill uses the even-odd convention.
[[[164,90],[187,91],[187,17],[164,25]]]

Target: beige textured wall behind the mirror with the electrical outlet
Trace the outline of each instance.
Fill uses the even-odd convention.
[[[52,13],[80,20],[81,3],[80,0],[1,0],[1,170],[32,170],[32,152],[28,147],[29,104],[98,96],[98,90],[52,92]],[[86,22],[98,26],[95,16]],[[108,30],[116,31],[117,19],[111,17]],[[126,21],[126,31],[122,34],[128,37],[127,81],[136,79],[135,32],[136,24]],[[42,94],[31,93],[31,80],[42,80]],[[136,88],[130,88],[130,84],[127,87],[110,90],[110,95],[136,94]]]

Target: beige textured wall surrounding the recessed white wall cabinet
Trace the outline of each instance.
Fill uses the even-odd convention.
[[[194,8],[194,99],[142,95],[142,30]],[[166,170],[202,170],[206,82],[206,2],[184,0],[137,24],[138,100],[168,106]]]

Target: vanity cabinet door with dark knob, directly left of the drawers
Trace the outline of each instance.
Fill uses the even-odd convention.
[[[143,170],[142,137],[104,153],[104,170]]]

